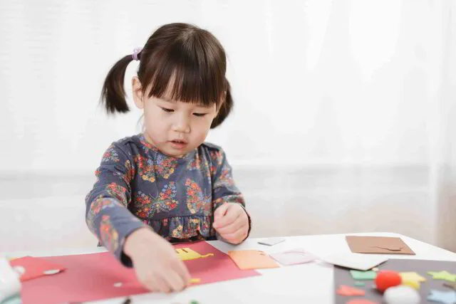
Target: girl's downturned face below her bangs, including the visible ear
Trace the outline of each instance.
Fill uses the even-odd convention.
[[[204,107],[182,103],[170,100],[169,93],[162,98],[142,97],[135,86],[138,88],[133,79],[133,97],[138,108],[144,110],[147,140],[158,150],[172,157],[182,157],[204,142],[217,115],[215,104]]]

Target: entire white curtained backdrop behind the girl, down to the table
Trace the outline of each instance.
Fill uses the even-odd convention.
[[[208,141],[252,236],[390,231],[456,251],[451,0],[0,1],[0,251],[95,245],[93,171],[141,129],[139,110],[103,113],[103,79],[170,22],[227,51],[235,110]]]

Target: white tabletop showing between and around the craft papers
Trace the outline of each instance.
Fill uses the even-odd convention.
[[[456,261],[456,253],[446,251],[407,236],[391,233],[350,234],[368,236],[398,236],[402,238],[416,256],[390,255],[390,258],[415,258],[423,260]],[[239,246],[231,246],[221,241],[211,241],[214,247],[227,252],[232,249],[258,249],[274,253],[294,248],[304,248],[316,256],[332,253],[350,252],[345,241],[345,234],[290,236],[286,241],[275,246],[257,243],[260,239],[249,239]],[[78,253],[100,252],[100,248],[78,251],[47,251],[9,253],[9,256],[58,256]],[[382,255],[384,256],[384,255]],[[317,261],[298,266],[259,270],[262,276],[239,280],[199,285],[181,293],[145,294],[132,297],[132,304],[140,303],[190,303],[197,300],[200,304],[208,303],[319,303],[332,304],[334,301],[333,266]],[[92,303],[120,304],[124,298],[96,301]]]

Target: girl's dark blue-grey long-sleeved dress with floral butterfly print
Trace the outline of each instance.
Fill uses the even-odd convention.
[[[214,210],[228,202],[245,207],[224,152],[209,143],[176,158],[142,134],[126,137],[108,147],[95,176],[86,222],[125,266],[123,243],[136,229],[150,226],[171,242],[217,239]]]

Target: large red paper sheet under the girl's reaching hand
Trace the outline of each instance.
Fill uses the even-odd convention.
[[[205,241],[175,246],[185,247],[202,255],[214,253],[214,256],[207,258],[184,261],[192,278],[200,279],[199,283],[192,285],[259,276],[257,271],[240,270],[227,254]],[[24,282],[21,289],[22,304],[86,302],[149,293],[137,281],[133,268],[125,268],[108,252],[43,259],[61,264],[66,271]],[[115,287],[116,283],[122,285]]]

